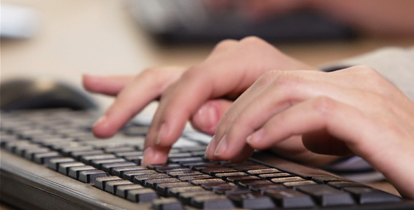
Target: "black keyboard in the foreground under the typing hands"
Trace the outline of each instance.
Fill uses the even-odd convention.
[[[166,164],[142,167],[148,122],[97,139],[98,116],[1,112],[1,201],[21,209],[414,209],[411,200],[265,151],[211,162],[209,137],[194,130]]]

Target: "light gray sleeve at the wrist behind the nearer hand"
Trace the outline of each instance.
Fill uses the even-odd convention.
[[[382,48],[328,66],[356,65],[373,67],[414,101],[414,47]]]

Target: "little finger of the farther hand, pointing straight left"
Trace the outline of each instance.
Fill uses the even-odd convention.
[[[118,94],[131,80],[133,80],[133,76],[93,76],[86,74],[82,78],[86,90],[108,95]]]

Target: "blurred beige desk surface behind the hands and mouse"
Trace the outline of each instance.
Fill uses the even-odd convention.
[[[81,74],[135,74],[147,66],[191,66],[213,45],[159,45],[138,27],[121,0],[3,0],[37,12],[36,36],[1,40],[1,80],[47,76],[81,84]],[[327,43],[276,45],[318,66],[387,45],[414,45],[414,38],[364,37]],[[100,99],[105,104],[107,99]],[[387,191],[387,183],[375,183]]]

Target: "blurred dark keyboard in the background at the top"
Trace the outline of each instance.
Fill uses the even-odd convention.
[[[142,29],[163,43],[217,42],[226,38],[259,36],[266,41],[319,41],[347,39],[354,31],[310,12],[281,15],[249,22],[237,12],[214,13],[202,1],[126,0]]]

